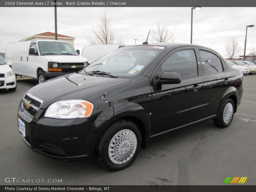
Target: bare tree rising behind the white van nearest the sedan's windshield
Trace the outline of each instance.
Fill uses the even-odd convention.
[[[90,44],[122,44],[124,43],[123,36],[117,35],[116,31],[112,28],[112,24],[107,17],[107,13],[100,17],[98,27],[92,28],[94,37],[89,37],[87,40]]]

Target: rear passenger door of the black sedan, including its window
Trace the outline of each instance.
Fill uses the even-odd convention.
[[[204,102],[202,118],[218,112],[222,97],[231,86],[231,76],[225,72],[224,60],[217,53],[206,48],[198,48],[204,78]]]

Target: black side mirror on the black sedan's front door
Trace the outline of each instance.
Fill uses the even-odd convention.
[[[156,82],[158,84],[179,84],[181,76],[178,73],[164,72]]]

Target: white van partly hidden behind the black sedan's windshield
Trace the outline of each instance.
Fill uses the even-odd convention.
[[[116,50],[125,47],[125,44],[101,44],[101,45],[85,45],[81,56],[88,59],[88,63]]]

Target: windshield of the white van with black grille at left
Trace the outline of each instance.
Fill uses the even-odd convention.
[[[78,55],[74,47],[66,42],[39,41],[38,48],[41,55]]]

